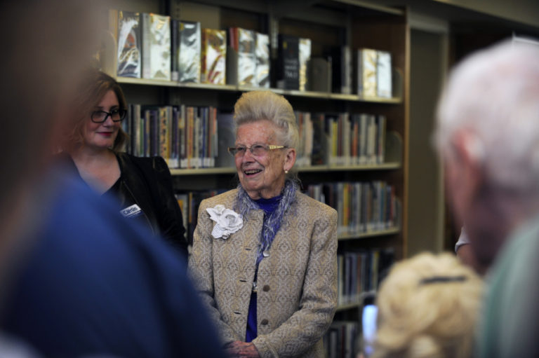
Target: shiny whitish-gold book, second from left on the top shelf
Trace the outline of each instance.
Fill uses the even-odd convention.
[[[142,78],[171,81],[171,18],[142,14]]]

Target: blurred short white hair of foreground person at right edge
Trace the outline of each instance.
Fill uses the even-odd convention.
[[[452,71],[437,113],[435,139],[444,155],[465,131],[468,151],[491,184],[539,192],[539,46],[503,41],[467,57]]]

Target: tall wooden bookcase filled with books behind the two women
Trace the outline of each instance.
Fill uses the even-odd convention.
[[[112,0],[111,8],[116,55],[103,68],[126,90],[126,151],[166,159],[189,237],[199,202],[237,185],[227,147],[241,92],[272,90],[293,104],[302,191],[339,217],[335,322],[347,323],[331,336],[353,331],[362,292],[406,255],[406,10],[350,0]]]

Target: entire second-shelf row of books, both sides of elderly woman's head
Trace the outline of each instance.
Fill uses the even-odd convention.
[[[380,164],[385,160],[385,116],[296,111],[298,167]],[[213,106],[129,104],[122,122],[126,151],[162,156],[171,168],[233,167],[232,113]]]

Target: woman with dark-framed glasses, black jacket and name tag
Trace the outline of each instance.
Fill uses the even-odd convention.
[[[121,214],[149,227],[187,255],[182,214],[172,177],[161,157],[138,158],[122,153],[127,139],[121,129],[127,104],[117,81],[88,69],[79,86],[81,116],[67,130],[62,149],[81,178],[102,195],[113,195]]]

